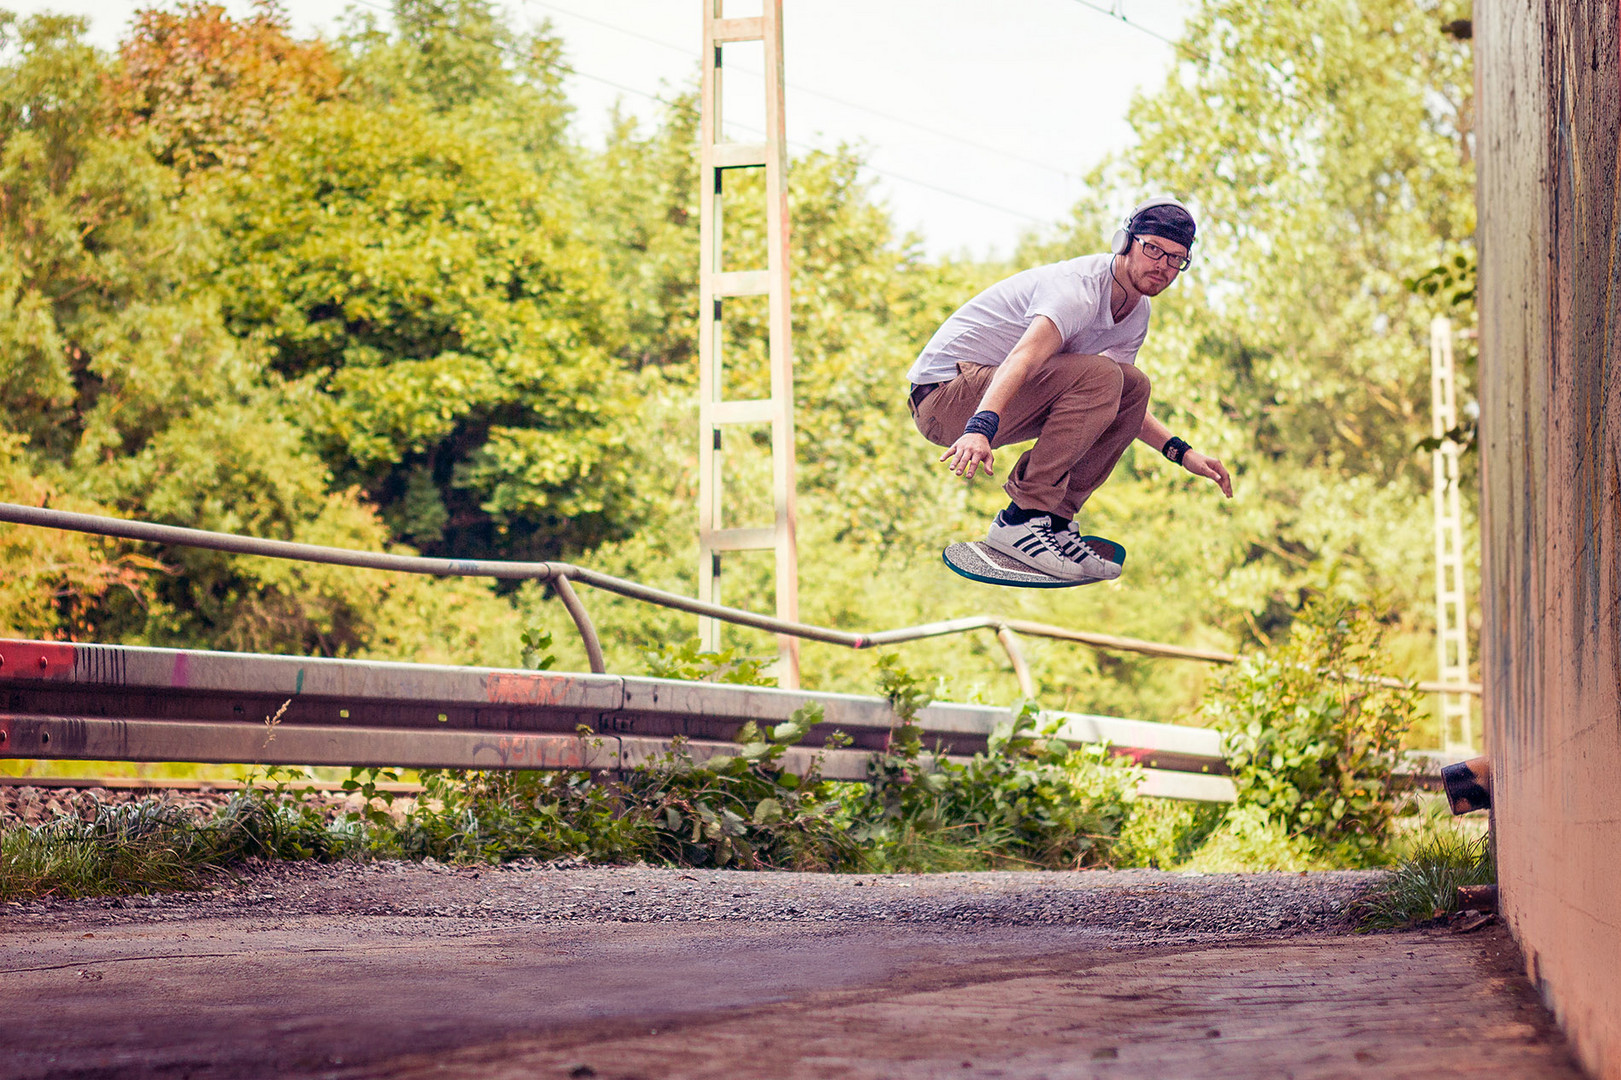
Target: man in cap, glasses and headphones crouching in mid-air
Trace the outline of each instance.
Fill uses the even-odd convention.
[[[1193,214],[1154,198],[1115,234],[1112,255],[1037,266],[964,303],[924,345],[906,378],[917,430],[971,480],[990,475],[997,446],[1036,444],[1003,488],[989,546],[1052,577],[1114,579],[1120,564],[1088,545],[1075,512],[1102,486],[1131,439],[1143,439],[1232,498],[1222,464],[1148,415],[1136,350],[1149,297],[1190,264]]]

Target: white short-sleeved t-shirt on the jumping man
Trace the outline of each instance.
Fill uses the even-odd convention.
[[[1114,284],[1110,259],[1112,255],[1083,255],[999,281],[940,324],[906,379],[947,383],[956,378],[958,360],[995,366],[1008,358],[1037,315],[1052,319],[1063,336],[1059,352],[1102,355],[1135,365],[1136,350],[1148,337],[1148,297],[1141,297],[1125,319],[1115,323],[1109,311]]]

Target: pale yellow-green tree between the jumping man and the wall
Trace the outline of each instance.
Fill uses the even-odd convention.
[[[1237,469],[1238,499],[1190,493],[1141,448],[1128,485],[1096,499],[1149,534],[1149,572],[1183,626],[1172,637],[1203,624],[1264,647],[1328,592],[1392,611],[1392,655],[1430,663],[1428,462],[1414,448],[1436,302],[1409,282],[1472,258],[1470,57],[1443,31],[1454,6],[1209,0],[1178,66],[1133,105],[1140,144],[1024,248],[1101,250],[1146,193],[1198,211],[1198,263],[1156,302],[1143,368],[1156,415]]]

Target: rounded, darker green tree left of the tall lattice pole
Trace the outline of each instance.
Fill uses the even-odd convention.
[[[289,117],[222,182],[227,321],[396,537],[546,558],[624,535],[635,389],[609,355],[608,277],[554,177],[562,148],[507,139],[561,117],[554,81],[543,58],[504,63],[485,5],[399,16],[397,37],[350,39],[363,94]]]

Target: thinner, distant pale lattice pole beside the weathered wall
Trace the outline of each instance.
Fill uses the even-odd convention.
[[[1469,606],[1464,594],[1464,516],[1459,508],[1459,446],[1446,438],[1457,426],[1457,381],[1452,365],[1452,323],[1430,323],[1430,431],[1439,441],[1431,452],[1435,491],[1435,606],[1439,681],[1469,681]],[[1462,694],[1441,694],[1441,748],[1473,752],[1473,705]]]

